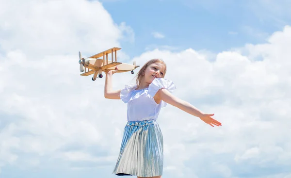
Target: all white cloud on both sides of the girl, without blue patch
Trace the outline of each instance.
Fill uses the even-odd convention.
[[[104,78],[80,76],[78,51],[120,46],[134,40],[132,30],[114,24],[97,1],[0,5],[0,166],[93,168],[110,176],[126,105],[103,97]],[[287,26],[266,44],[223,51],[215,60],[194,49],[155,49],[133,59],[143,65],[163,58],[174,94],[223,123],[211,128],[164,108],[164,177],[290,177],[290,36]],[[119,59],[128,62],[122,51]],[[130,73],[113,78],[114,88],[134,82]]]

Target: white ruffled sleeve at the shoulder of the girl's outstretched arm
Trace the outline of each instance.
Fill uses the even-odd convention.
[[[156,78],[151,82],[151,84],[149,84],[148,94],[151,97],[154,97],[156,93],[162,88],[165,88],[170,93],[172,93],[176,89],[176,85],[173,83],[173,81],[170,81],[164,78]],[[162,107],[165,107],[167,105],[167,103],[164,101],[162,101],[161,104],[162,104]]]

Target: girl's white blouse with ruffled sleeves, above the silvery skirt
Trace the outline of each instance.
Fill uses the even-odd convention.
[[[136,88],[137,85],[125,85],[120,92],[120,99],[128,105],[128,121],[157,120],[161,108],[165,107],[167,103],[161,101],[160,104],[157,104],[153,97],[162,88],[172,93],[176,86],[172,81],[156,78],[148,88],[135,90]]]

